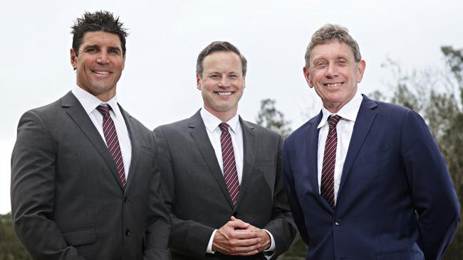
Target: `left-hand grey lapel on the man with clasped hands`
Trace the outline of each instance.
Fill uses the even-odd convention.
[[[204,126],[199,111],[188,119],[188,128],[190,129],[190,134],[192,135],[194,143],[196,143],[199,153],[201,153],[204,159],[204,163],[206,163],[210,173],[217,181],[230,207],[233,208],[233,203],[231,203],[227,185],[225,184],[224,175],[222,170],[220,170],[219,161],[217,161],[217,156],[215,156],[214,148],[212,147],[211,141],[209,141],[206,126]]]

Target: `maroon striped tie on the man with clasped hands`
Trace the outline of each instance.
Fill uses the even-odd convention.
[[[222,146],[222,162],[224,164],[224,178],[227,185],[230,199],[233,204],[238,199],[239,181],[238,172],[236,171],[235,154],[233,152],[233,143],[228,131],[228,124],[219,124],[222,134],[220,134],[220,146]]]

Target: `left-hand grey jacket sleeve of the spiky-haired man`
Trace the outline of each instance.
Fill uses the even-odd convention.
[[[11,155],[14,230],[32,259],[83,259],[51,220],[55,201],[56,147],[42,119],[26,112]]]

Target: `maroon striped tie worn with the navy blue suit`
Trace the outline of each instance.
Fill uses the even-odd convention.
[[[338,133],[336,125],[341,119],[338,115],[328,117],[328,136],[326,137],[325,153],[323,154],[323,167],[321,168],[321,195],[334,208],[334,166],[336,162],[336,146],[338,146]]]

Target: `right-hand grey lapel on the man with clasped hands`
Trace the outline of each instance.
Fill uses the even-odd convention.
[[[238,200],[236,200],[235,208],[238,207],[241,200],[243,200],[244,193],[249,187],[251,181],[251,174],[254,170],[256,161],[256,133],[254,132],[254,126],[251,126],[248,122],[244,121],[239,117],[241,129],[243,130],[243,175],[241,178],[241,184],[239,185]]]

